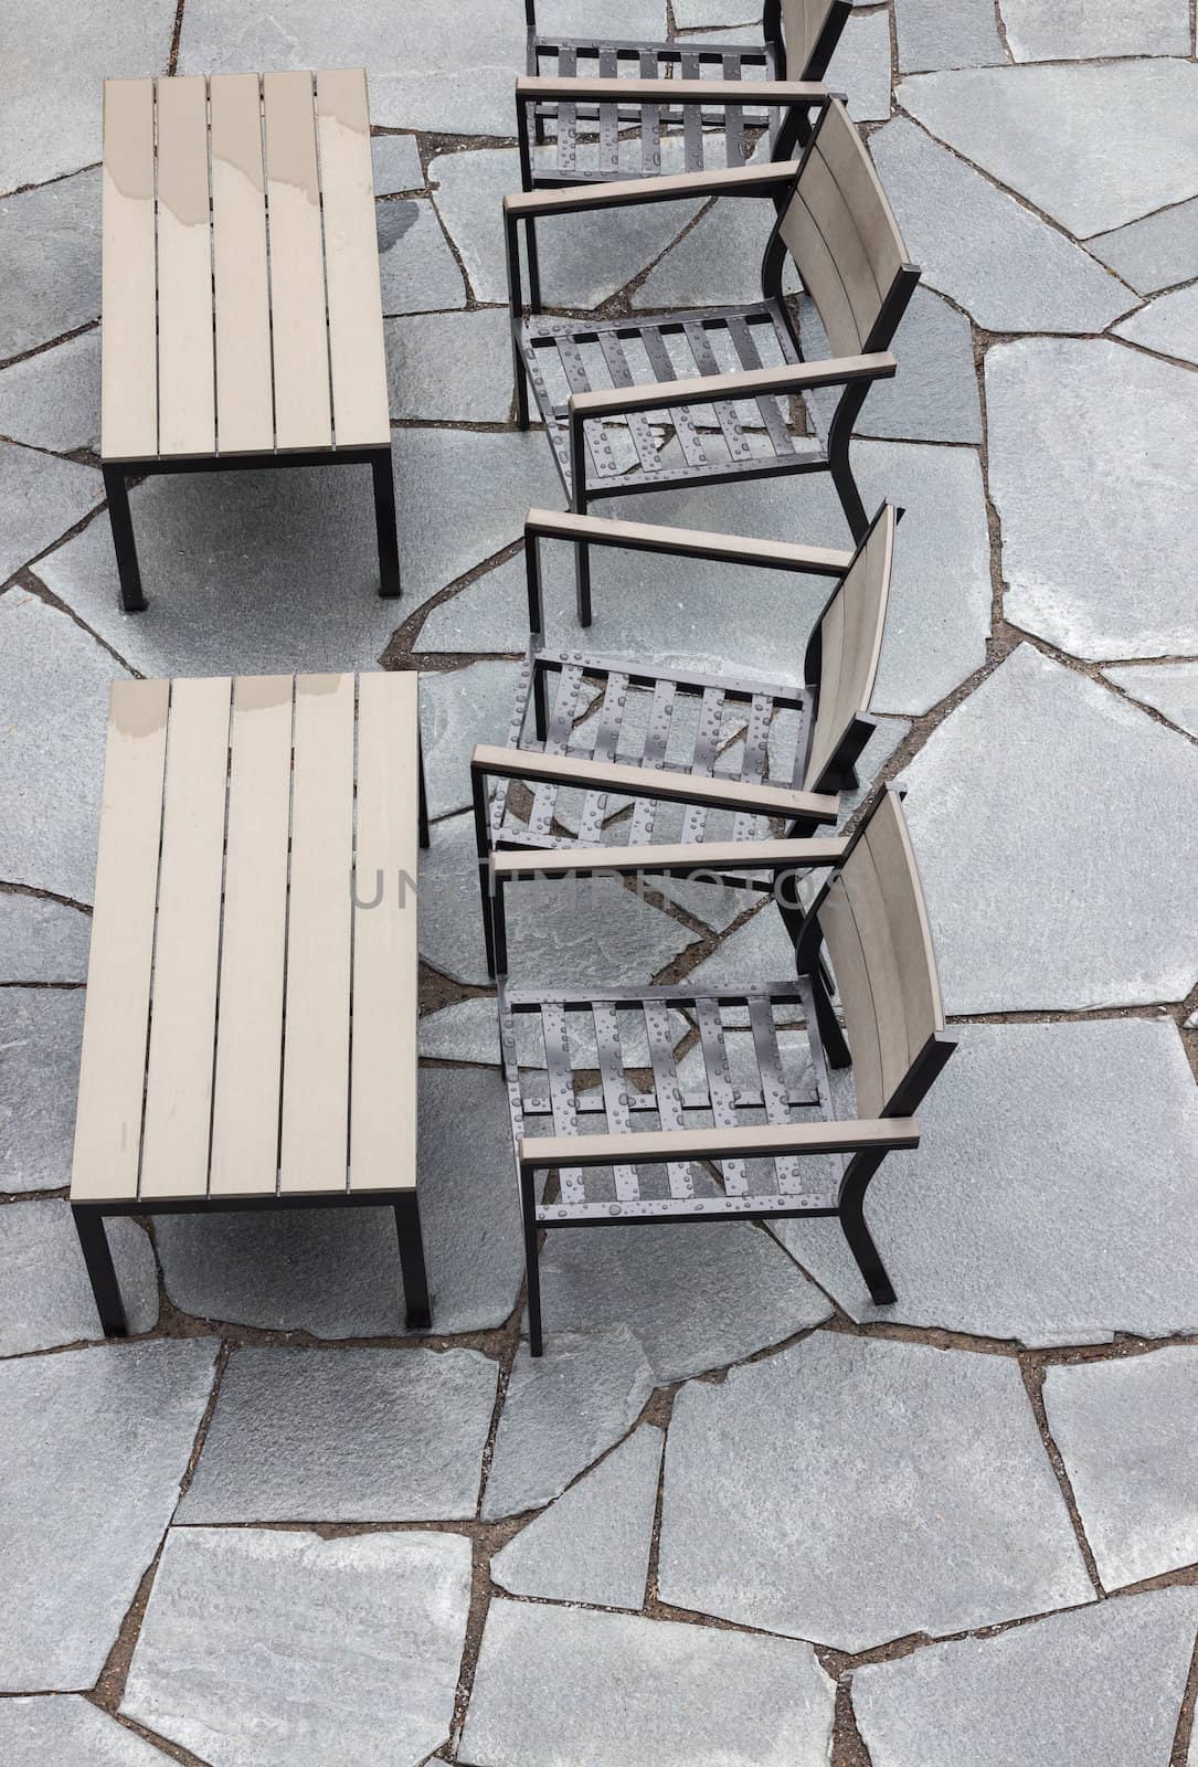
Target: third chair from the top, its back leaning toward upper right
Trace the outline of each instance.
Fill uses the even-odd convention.
[[[839,793],[857,785],[857,758],[876,728],[869,698],[899,514],[883,504],[857,550],[846,553],[528,511],[532,638],[509,740],[507,747],[479,746],[470,760],[491,975],[507,970],[505,885],[521,876],[569,875],[580,850],[599,846],[604,836],[611,845],[603,845],[603,868],[615,873],[647,871],[643,850],[654,839],[710,841],[703,875],[716,878],[717,843],[751,841],[769,820],[788,836],[836,822]],[[595,546],[834,578],[808,638],[804,686],[638,668],[546,648],[541,542],[580,537]],[[532,786],[525,816],[512,804],[514,781]],[[633,800],[631,815],[608,822],[626,799]],[[615,845],[622,836],[627,845]]]

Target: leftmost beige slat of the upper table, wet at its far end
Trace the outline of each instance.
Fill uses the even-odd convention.
[[[101,454],[157,452],[154,81],[104,81]]]

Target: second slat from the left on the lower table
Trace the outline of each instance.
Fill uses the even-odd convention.
[[[203,1196],[221,947],[228,675],[173,680],[140,1194]]]

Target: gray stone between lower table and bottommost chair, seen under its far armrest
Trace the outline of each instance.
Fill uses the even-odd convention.
[[[693,944],[680,921],[617,878],[532,880],[507,892],[511,975],[521,988],[650,981]],[[421,853],[421,956],[454,981],[488,981],[472,816],[438,823]]]

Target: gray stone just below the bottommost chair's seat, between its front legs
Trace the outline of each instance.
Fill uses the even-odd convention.
[[[541,1253],[541,1290],[550,1336],[626,1325],[657,1385],[739,1362],[832,1311],[749,1221],[560,1228]]]

